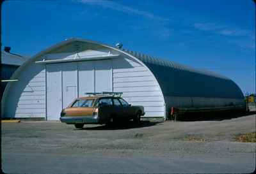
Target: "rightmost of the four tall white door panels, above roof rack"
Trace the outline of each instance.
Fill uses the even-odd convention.
[[[111,60],[95,61],[95,92],[112,92]]]

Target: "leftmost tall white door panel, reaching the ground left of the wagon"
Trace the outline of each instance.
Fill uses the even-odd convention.
[[[61,64],[47,64],[47,120],[58,120],[62,110]]]

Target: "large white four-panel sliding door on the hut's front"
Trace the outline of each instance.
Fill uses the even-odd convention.
[[[47,120],[86,92],[113,91],[111,60],[47,64]]]

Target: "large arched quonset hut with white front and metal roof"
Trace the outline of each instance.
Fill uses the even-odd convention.
[[[182,110],[244,109],[232,80],[95,41],[71,38],[36,54],[12,76],[2,99],[2,117],[58,120],[62,108],[86,92],[123,92],[144,117],[166,118]]]

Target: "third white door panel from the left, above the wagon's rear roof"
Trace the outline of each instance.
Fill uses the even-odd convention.
[[[94,61],[78,62],[79,97],[86,92],[94,92]]]

